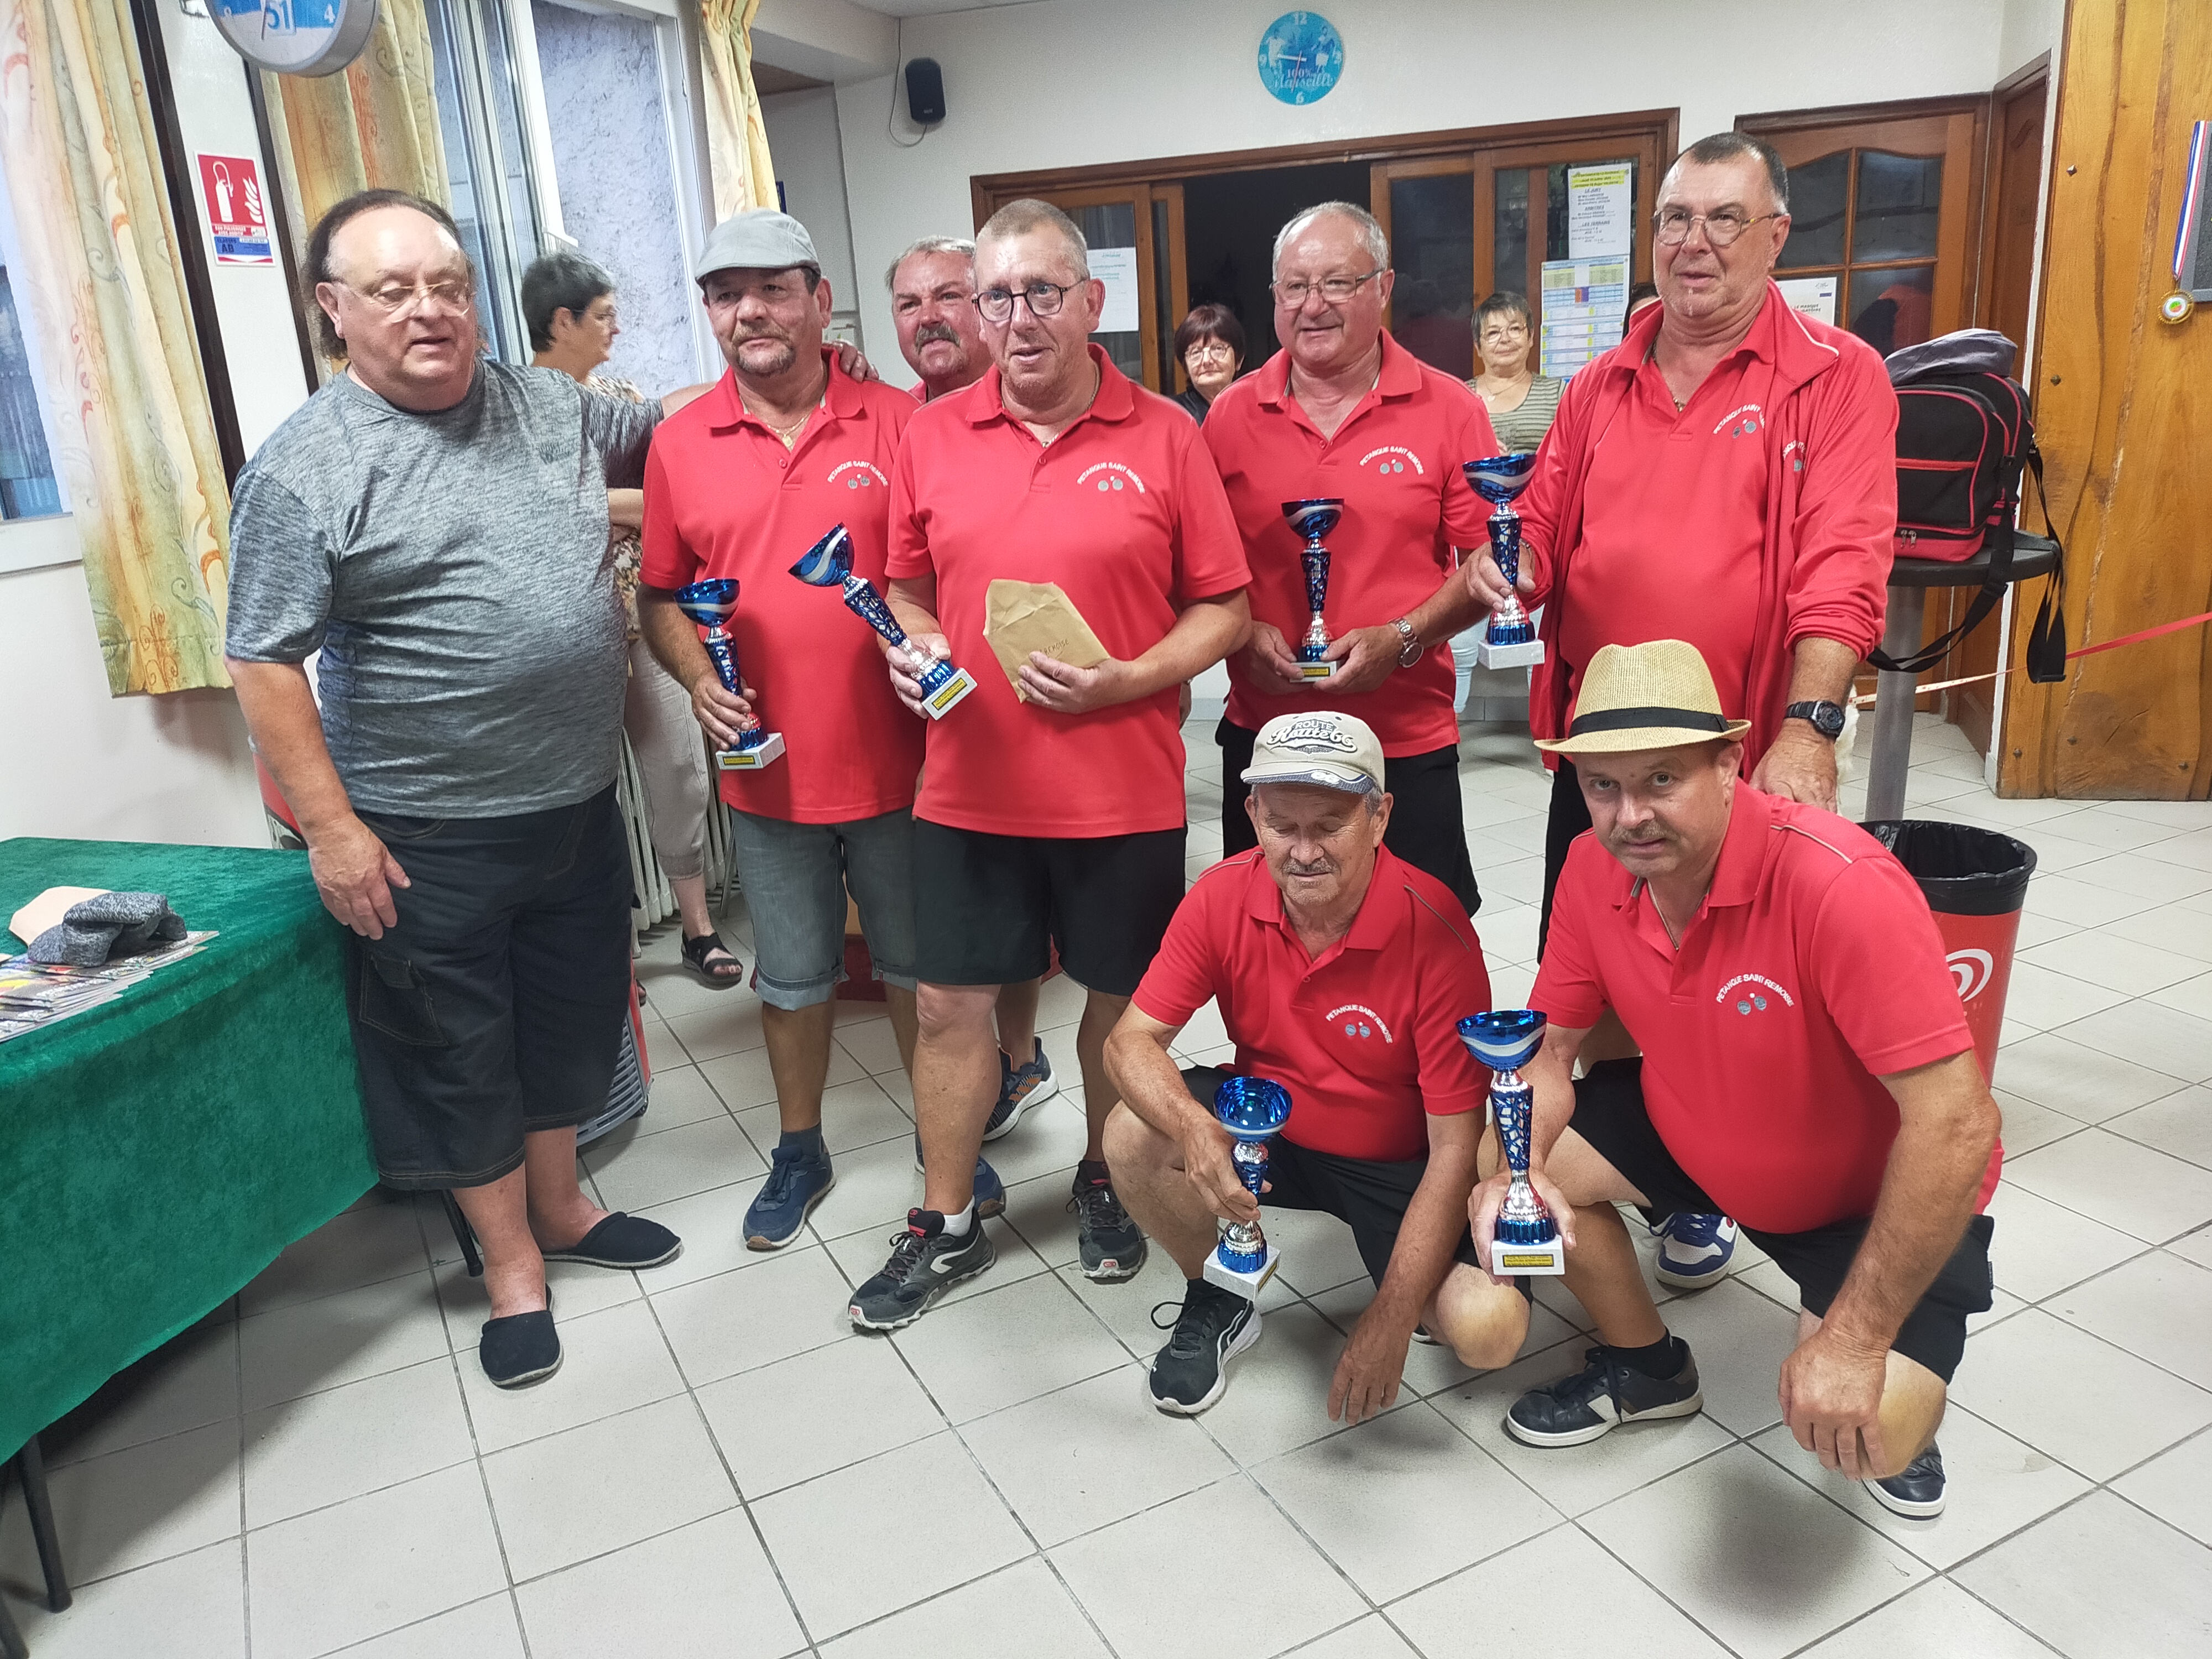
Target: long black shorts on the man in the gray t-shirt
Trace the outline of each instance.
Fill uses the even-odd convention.
[[[630,1002],[615,792],[511,818],[363,812],[407,887],[347,933],[345,998],[385,1186],[484,1186],[522,1137],[606,1106]]]

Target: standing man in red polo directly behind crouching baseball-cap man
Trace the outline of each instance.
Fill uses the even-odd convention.
[[[1484,546],[1489,507],[1462,462],[1498,453],[1491,418],[1464,385],[1383,332],[1394,272],[1383,226],[1325,201],[1274,239],[1274,332],[1285,341],[1206,411],[1206,447],[1237,509],[1252,566],[1252,639],[1230,657],[1221,743],[1221,849],[1252,847],[1245,790],[1252,732],[1276,714],[1343,708],[1383,739],[1396,810],[1389,847],[1444,883],[1469,916],[1482,902],[1460,814],[1460,726],[1451,653],[1480,615],[1455,546]],[[1298,535],[1283,502],[1336,495],[1327,533],[1329,657],[1298,677],[1312,611]]]

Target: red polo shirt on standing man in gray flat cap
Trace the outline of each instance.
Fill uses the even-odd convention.
[[[823,356],[830,389],[790,451],[723,374],[659,425],[646,458],[641,577],[655,588],[737,577],[737,661],[761,692],[761,726],[783,732],[774,765],[717,774],[721,799],[792,823],[898,812],[922,768],[922,723],[891,692],[874,630],[836,588],[790,573],[843,524],[854,573],[883,586],[891,462],[916,414],[902,392]]]

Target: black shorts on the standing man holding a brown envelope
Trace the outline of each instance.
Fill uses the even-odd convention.
[[[1060,967],[1126,998],[1183,902],[1183,832],[991,836],[914,821],[914,978],[1015,984]]]

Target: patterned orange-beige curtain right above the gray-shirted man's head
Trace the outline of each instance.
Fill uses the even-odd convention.
[[[414,190],[451,206],[422,0],[383,0],[369,44],[343,73],[261,75],[261,95],[296,250],[356,190]]]

